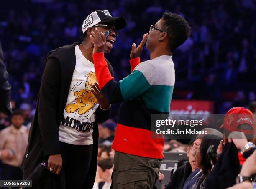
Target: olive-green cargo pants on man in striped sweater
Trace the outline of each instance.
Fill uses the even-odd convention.
[[[112,189],[153,189],[159,177],[159,159],[115,152]]]

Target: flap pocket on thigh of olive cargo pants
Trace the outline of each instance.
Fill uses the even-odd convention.
[[[147,189],[148,171],[130,169],[118,173],[118,189]]]

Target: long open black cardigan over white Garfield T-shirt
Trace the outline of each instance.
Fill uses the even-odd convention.
[[[28,147],[21,165],[24,179],[34,171],[36,166],[49,155],[61,154],[59,146],[59,124],[62,120],[66,106],[69,87],[75,69],[76,57],[74,48],[79,45],[59,47],[49,52],[46,57],[46,67],[42,76],[41,87],[38,95],[35,116],[31,124]],[[113,68],[109,64],[110,72]],[[98,108],[95,112],[96,120],[93,125],[93,153],[92,162],[87,175],[84,189],[91,189],[94,184],[97,168],[98,125],[110,117],[110,110],[102,111]],[[44,172],[43,179],[37,187],[42,189],[64,189],[63,171],[59,175]],[[33,181],[32,181],[33,182]]]

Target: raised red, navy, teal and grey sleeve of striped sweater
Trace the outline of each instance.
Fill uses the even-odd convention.
[[[95,53],[92,56],[100,89],[110,104],[133,99],[151,86],[154,75],[153,65],[140,64],[140,69],[136,68],[133,73],[116,82],[110,75],[104,53]]]

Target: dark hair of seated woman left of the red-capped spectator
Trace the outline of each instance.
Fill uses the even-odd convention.
[[[207,150],[211,145],[214,145],[213,152],[217,152],[218,146],[222,138],[217,135],[205,135],[202,138],[200,144],[200,154],[201,154],[201,166],[205,176],[208,174],[208,171],[212,169],[211,160],[207,155]]]

